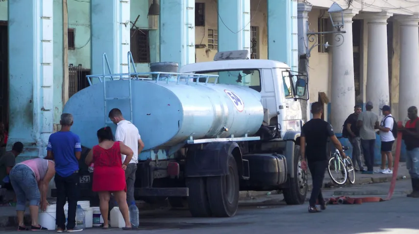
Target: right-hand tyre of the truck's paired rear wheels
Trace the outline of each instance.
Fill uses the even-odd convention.
[[[211,211],[216,217],[232,217],[239,206],[239,173],[234,157],[227,158],[228,175],[207,178]]]

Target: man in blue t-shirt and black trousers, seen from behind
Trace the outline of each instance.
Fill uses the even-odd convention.
[[[64,205],[68,199],[67,232],[82,231],[75,229],[75,210],[78,199],[78,160],[81,156],[81,143],[78,135],[70,131],[73,125],[72,114],[61,115],[61,130],[49,136],[47,157],[55,161],[55,186],[57,188],[56,225],[57,232],[65,231],[66,216]]]

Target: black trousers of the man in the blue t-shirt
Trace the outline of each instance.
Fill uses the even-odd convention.
[[[77,208],[77,201],[79,196],[78,173],[74,173],[68,177],[61,177],[55,174],[55,187],[57,188],[57,209],[56,222],[57,228],[65,229],[66,215],[64,213],[64,205],[66,200],[69,203],[69,210],[67,216],[67,229],[74,229],[75,227],[75,210]]]

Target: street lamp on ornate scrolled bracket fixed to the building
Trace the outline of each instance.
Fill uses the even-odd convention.
[[[341,29],[344,27],[345,22],[344,22],[344,9],[336,2],[333,2],[333,4],[330,6],[329,10],[327,11],[329,13],[329,17],[330,17],[330,21],[332,22],[332,26],[336,29],[336,31],[329,31],[329,32],[310,32],[310,29],[308,29],[307,32],[307,37],[308,37],[308,41],[313,43],[313,45],[310,47],[310,49],[307,50],[306,53],[306,57],[310,57],[310,52],[311,50],[313,50],[313,48],[317,47],[317,46],[324,46],[325,48],[331,47],[331,46],[341,46],[344,41],[344,35],[342,35],[343,33],[346,33],[346,31],[341,31]],[[339,17],[340,15],[340,17]],[[333,18],[335,19],[340,19],[340,20],[336,20],[334,21]],[[307,21],[307,24],[308,21]],[[309,27],[307,27],[309,28]],[[325,43],[318,43],[319,41],[319,36],[321,35],[326,35],[326,34],[332,34],[335,33],[335,41],[338,42],[338,44],[336,45],[330,45],[329,42],[325,42]]]

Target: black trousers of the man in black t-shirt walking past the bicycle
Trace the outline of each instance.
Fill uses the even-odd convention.
[[[323,186],[324,173],[326,173],[328,161],[308,161],[308,169],[313,180],[313,189],[310,196],[310,207],[316,206],[317,200],[319,203],[324,203],[323,194],[321,194],[321,187]]]

